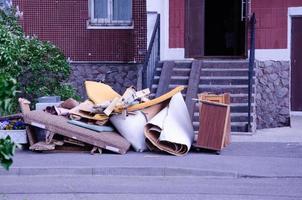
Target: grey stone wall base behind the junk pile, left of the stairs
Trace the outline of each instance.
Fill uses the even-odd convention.
[[[116,92],[123,94],[130,87],[138,87],[139,64],[94,64],[72,63],[69,83],[74,86],[82,98],[87,98],[84,81],[102,81]]]

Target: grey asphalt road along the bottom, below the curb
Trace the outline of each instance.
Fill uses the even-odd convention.
[[[302,178],[2,176],[0,200],[302,199]]]

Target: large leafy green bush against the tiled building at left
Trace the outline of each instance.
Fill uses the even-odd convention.
[[[17,80],[18,96],[33,103],[45,95],[79,99],[65,83],[70,67],[63,53],[50,42],[25,36],[14,9],[0,10],[0,73]],[[12,104],[16,102],[17,98]]]

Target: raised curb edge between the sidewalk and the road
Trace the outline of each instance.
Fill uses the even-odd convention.
[[[102,168],[11,168],[0,169],[0,176],[198,176],[237,178],[237,172],[190,168],[102,167]]]

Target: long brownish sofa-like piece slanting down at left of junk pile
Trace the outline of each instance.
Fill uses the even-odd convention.
[[[130,143],[114,132],[95,132],[86,128],[68,123],[68,119],[62,116],[51,115],[43,111],[30,111],[29,103],[25,99],[19,99],[24,122],[30,125],[27,129],[32,150],[55,150],[62,148],[64,143],[74,143],[80,146],[88,144],[95,150],[106,149],[120,154],[125,154]],[[35,133],[32,127],[47,130],[45,142],[35,140]],[[54,136],[63,136],[63,141],[54,140]],[[62,144],[63,142],[63,144]]]

